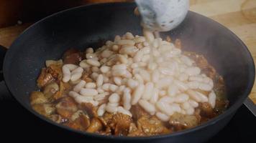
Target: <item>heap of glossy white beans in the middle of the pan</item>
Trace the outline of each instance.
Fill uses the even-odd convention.
[[[120,112],[132,117],[129,109],[139,104],[164,122],[175,112],[193,114],[199,102],[214,108],[212,79],[172,43],[155,39],[148,31],[144,35],[116,36],[96,52],[86,49],[79,66],[63,65],[63,82],[78,83],[70,97],[79,104],[93,104],[99,116]],[[92,71],[93,82],[81,80],[87,71]],[[108,102],[102,103],[106,98]]]

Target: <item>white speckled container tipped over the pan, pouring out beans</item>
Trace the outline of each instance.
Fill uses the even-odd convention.
[[[135,0],[142,26],[150,31],[170,31],[186,17],[189,0]]]

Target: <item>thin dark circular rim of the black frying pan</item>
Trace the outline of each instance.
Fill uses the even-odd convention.
[[[114,3],[105,3],[105,4],[89,4],[89,5],[85,5],[85,6],[77,6],[77,7],[74,7],[74,8],[71,8],[71,9],[66,9],[64,11],[60,11],[58,13],[55,13],[55,14],[52,14],[50,16],[47,16],[43,19],[41,19],[40,21],[37,21],[35,24],[32,24],[31,26],[29,26],[26,30],[24,30],[22,32],[22,34],[20,34],[17,39],[15,39],[15,41],[12,43],[12,45],[9,47],[9,49],[7,50],[6,52],[6,56],[4,57],[4,64],[3,64],[3,71],[4,71],[4,81],[6,83],[6,87],[9,89],[9,92],[11,92],[12,96],[14,97],[14,99],[17,100],[17,102],[19,102],[19,99],[17,99],[17,96],[15,96],[12,91],[12,89],[10,89],[9,87],[12,87],[12,83],[10,82],[9,80],[9,72],[7,69],[8,65],[10,64],[10,54],[12,54],[12,52],[14,52],[14,47],[15,46],[15,43],[19,41],[19,39],[21,39],[22,35],[26,34],[27,32],[29,32],[29,29],[32,29],[32,27],[34,26],[37,26],[38,24],[40,24],[42,21],[45,21],[46,19],[52,19],[54,18],[54,16],[58,16],[59,14],[65,14],[65,13],[68,13],[70,11],[76,11],[76,10],[79,10],[79,9],[86,9],[87,7],[92,7],[92,6],[116,6],[116,5],[119,5],[119,6],[135,6],[134,3],[131,3],[131,2],[114,2]],[[251,90],[252,90],[252,87],[253,87],[253,84],[255,82],[255,64],[254,64],[254,61],[252,59],[252,55],[250,54],[250,51],[249,49],[247,48],[247,46],[244,44],[244,42],[239,39],[239,37],[234,34],[232,31],[230,31],[229,29],[227,29],[227,27],[223,26],[222,24],[219,24],[219,22],[217,21],[214,21],[213,19],[209,19],[208,17],[206,16],[203,16],[201,14],[197,14],[196,12],[193,12],[193,11],[189,11],[189,13],[193,14],[193,15],[196,15],[196,16],[200,16],[201,18],[203,19],[206,19],[207,21],[211,21],[212,23],[214,23],[216,26],[219,26],[220,29],[224,29],[225,31],[228,32],[228,34],[230,35],[230,37],[232,37],[232,39],[235,39],[236,41],[238,41],[238,43],[241,45],[241,49],[244,49],[245,53],[247,54],[247,58],[248,60],[250,61],[250,63],[248,63],[250,65],[250,69],[249,69],[249,80],[248,80],[248,83],[247,83],[247,89],[245,89],[244,93],[241,94],[241,96],[239,97],[239,99],[237,99],[237,101],[232,104],[231,107],[229,107],[224,113],[220,114],[218,117],[214,117],[214,119],[211,119],[209,120],[208,122],[204,123],[204,124],[201,124],[201,125],[198,125],[196,127],[193,127],[191,129],[185,129],[183,131],[180,131],[180,132],[174,132],[172,134],[163,134],[163,135],[157,135],[157,136],[151,136],[151,137],[116,137],[116,136],[106,136],[106,135],[101,135],[101,134],[94,134],[94,133],[88,133],[88,132],[81,132],[81,131],[78,131],[76,129],[71,129],[69,127],[65,127],[64,125],[62,124],[58,124],[58,123],[55,123],[55,122],[52,122],[50,119],[47,119],[46,117],[43,117],[42,115],[38,114],[37,112],[35,112],[32,108],[28,107],[26,104],[22,103],[22,102],[19,102],[19,104],[22,104],[22,107],[26,108],[27,110],[29,110],[29,112],[32,112],[32,114],[35,114],[35,116],[39,117],[40,119],[50,123],[50,124],[53,124],[57,127],[60,127],[62,129],[66,129],[68,131],[71,131],[71,132],[76,132],[78,134],[82,134],[82,135],[86,135],[88,137],[96,137],[96,138],[99,138],[99,139],[116,139],[116,140],[149,140],[149,139],[163,139],[163,138],[168,138],[168,137],[175,137],[175,136],[180,136],[180,135],[183,135],[183,134],[188,134],[188,133],[191,133],[191,132],[195,132],[197,130],[200,130],[200,129],[204,129],[205,127],[211,125],[211,124],[216,124],[216,122],[221,122],[221,119],[224,119],[225,117],[228,117],[230,114],[236,112],[236,110],[242,105],[242,103],[244,102],[244,100],[249,96]]]

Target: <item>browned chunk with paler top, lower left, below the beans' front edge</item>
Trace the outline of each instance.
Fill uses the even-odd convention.
[[[70,122],[68,122],[66,125],[73,129],[86,131],[86,129],[90,126],[90,118],[83,111],[78,110],[72,115]]]

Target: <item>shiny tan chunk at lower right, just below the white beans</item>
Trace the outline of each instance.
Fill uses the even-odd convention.
[[[199,124],[199,120],[194,115],[175,113],[170,117],[170,125],[174,127],[175,131],[180,131],[182,129],[188,129],[195,127]]]

